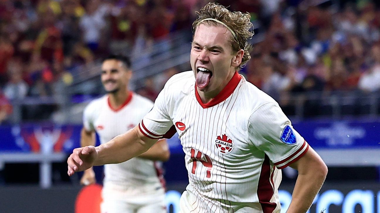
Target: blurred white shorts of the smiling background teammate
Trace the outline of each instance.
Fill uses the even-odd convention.
[[[163,188],[125,189],[118,185],[105,183],[102,197],[101,213],[167,213]]]

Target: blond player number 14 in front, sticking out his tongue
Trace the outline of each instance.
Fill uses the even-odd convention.
[[[275,100],[238,70],[250,58],[249,14],[208,3],[193,23],[192,71],[174,75],[130,132],[75,149],[68,175],[128,160],[157,139],[179,134],[189,185],[182,213],[279,213],[280,169],[298,170],[288,213],[306,212],[327,167]]]

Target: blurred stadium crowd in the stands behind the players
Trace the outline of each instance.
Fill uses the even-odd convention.
[[[206,2],[0,1],[0,110],[10,114],[9,102],[59,94],[62,91],[57,88],[62,86],[57,84],[69,85],[78,75],[76,67],[90,67],[108,53],[138,51],[178,30],[191,33],[194,11]],[[254,26],[260,26],[255,33],[264,34],[263,39],[254,44],[252,59],[241,73],[279,101],[285,111],[294,94],[345,91],[366,95],[380,90],[377,2],[218,3],[249,12]],[[154,100],[162,84],[179,71],[183,70],[173,67],[164,75],[147,78],[139,93]],[[294,109],[289,109],[291,114]]]

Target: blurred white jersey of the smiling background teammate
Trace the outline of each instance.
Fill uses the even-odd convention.
[[[84,128],[96,130],[100,143],[106,143],[117,135],[134,128],[153,107],[149,99],[130,92],[129,98],[118,109],[111,107],[108,95],[95,99],[87,105],[83,114]],[[132,158],[119,164],[104,166],[105,184],[119,186],[162,187],[163,176],[158,162]]]

